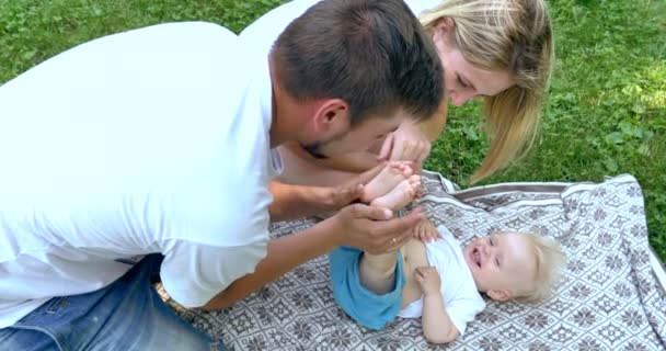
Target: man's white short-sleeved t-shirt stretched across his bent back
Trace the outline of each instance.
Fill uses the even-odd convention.
[[[202,306],[266,254],[265,57],[211,23],[156,25],[65,52],[0,87],[0,328],[164,254]]]

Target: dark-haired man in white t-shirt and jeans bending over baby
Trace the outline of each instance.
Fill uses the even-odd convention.
[[[361,149],[405,115],[432,115],[441,77],[402,1],[330,0],[287,27],[269,59],[214,24],[162,24],[5,83],[0,344],[210,350],[156,279],[176,302],[214,309],[340,245],[394,250],[422,213],[391,219],[354,204],[268,242],[274,148]],[[297,192],[276,194],[274,213],[302,212]]]

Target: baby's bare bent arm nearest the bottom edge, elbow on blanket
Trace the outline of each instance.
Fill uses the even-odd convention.
[[[418,267],[414,271],[416,282],[423,291],[423,336],[432,343],[447,343],[458,338],[458,329],[451,321],[441,293],[439,274],[434,267]]]

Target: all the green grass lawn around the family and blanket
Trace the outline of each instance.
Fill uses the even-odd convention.
[[[0,0],[0,82],[79,43],[165,21],[239,32],[283,0]],[[666,2],[551,0],[556,65],[527,158],[484,183],[601,181],[643,186],[651,244],[666,259]],[[449,110],[426,168],[467,185],[486,144],[479,104]]]

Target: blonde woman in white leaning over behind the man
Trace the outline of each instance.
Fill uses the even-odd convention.
[[[317,0],[295,0],[246,27],[240,37],[266,55],[278,33]],[[407,0],[437,46],[446,71],[446,101],[456,105],[480,98],[490,148],[471,177],[478,182],[526,151],[541,120],[543,93],[553,64],[551,21],[544,0]],[[359,48],[363,49],[363,48]],[[332,53],[333,54],[333,53]],[[334,72],[332,72],[334,73]],[[421,165],[444,131],[446,103],[437,118],[404,123],[377,135],[367,152],[326,157],[326,145],[280,148],[286,183],[343,184],[382,160]]]

